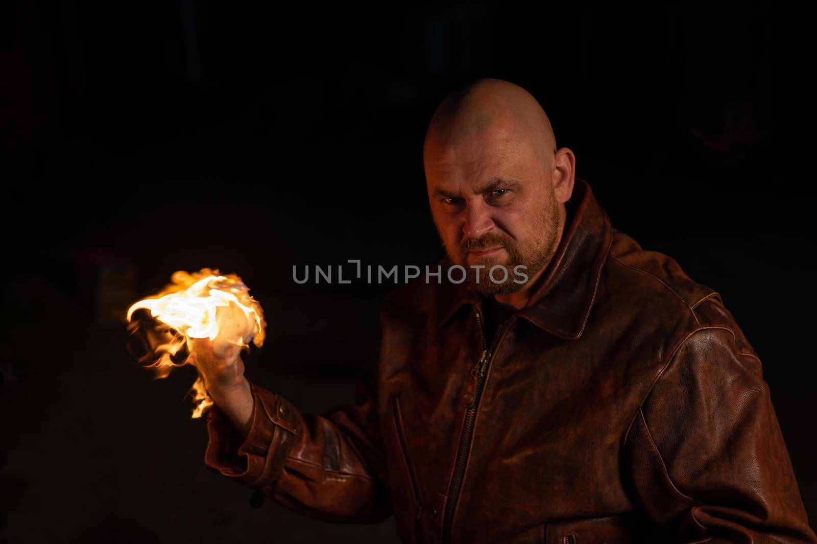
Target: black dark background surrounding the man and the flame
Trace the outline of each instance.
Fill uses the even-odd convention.
[[[618,230],[715,288],[764,364],[817,519],[810,87],[801,14],[564,7],[17,2],[2,8],[2,542],[396,542],[203,466],[193,377],[152,381],[121,312],[174,270],[241,274],[248,377],[352,399],[385,285],[292,265],[425,265],[422,139],[458,85],[519,83]]]

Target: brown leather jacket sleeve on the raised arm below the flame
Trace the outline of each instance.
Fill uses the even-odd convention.
[[[358,404],[303,414],[250,384],[252,426],[242,440],[225,415],[208,417],[205,464],[261,490],[292,511],[334,522],[377,523],[391,515],[373,390],[361,381]]]

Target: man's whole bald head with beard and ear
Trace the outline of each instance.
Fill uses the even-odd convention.
[[[431,215],[451,260],[480,270],[476,288],[505,295],[525,288],[514,267],[532,281],[558,245],[565,202],[573,192],[575,158],[556,150],[551,123],[522,87],[480,79],[443,100],[423,146]],[[505,283],[487,271],[507,268]],[[502,274],[495,276],[501,279]]]

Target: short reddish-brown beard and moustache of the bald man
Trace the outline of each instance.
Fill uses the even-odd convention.
[[[547,198],[547,205],[538,216],[532,217],[534,235],[528,240],[514,240],[506,234],[485,234],[478,239],[464,239],[456,247],[449,247],[445,243],[445,251],[449,259],[461,265],[467,271],[466,282],[475,288],[476,291],[485,296],[508,295],[518,292],[530,280],[551,261],[553,253],[556,251],[558,243],[559,225],[562,219],[562,209],[556,200],[556,192],[551,185],[551,191]],[[439,231],[438,231],[439,232]],[[442,239],[442,236],[440,235]],[[468,261],[468,252],[483,251],[493,247],[502,247],[507,252],[507,259],[495,256],[484,256],[477,259],[473,264]],[[471,266],[482,265],[484,268],[476,270]],[[493,266],[503,266],[507,274],[502,270],[497,270],[496,281],[493,281],[489,272]],[[516,274],[516,267],[523,266],[522,270],[527,274],[525,282],[520,281],[520,276]],[[479,275],[479,279],[477,279]],[[504,277],[504,281],[502,278]],[[514,281],[516,279],[516,281]]]

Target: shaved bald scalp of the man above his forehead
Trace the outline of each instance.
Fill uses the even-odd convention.
[[[556,151],[551,122],[534,96],[501,79],[480,79],[453,91],[437,108],[426,132],[423,157],[444,162],[444,155],[472,140],[515,136],[546,161]]]

